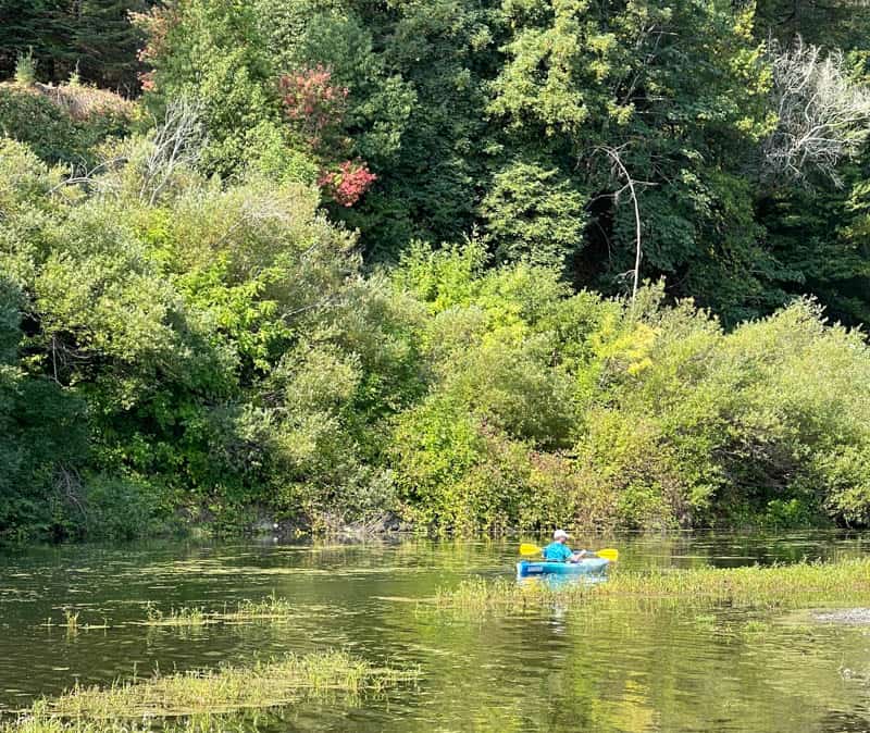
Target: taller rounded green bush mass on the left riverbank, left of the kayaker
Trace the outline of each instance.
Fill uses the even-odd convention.
[[[24,481],[32,504],[4,506],[4,523],[121,536],[126,502],[142,521],[156,505],[206,507],[223,524],[256,505],[301,523],[395,506],[372,459],[382,398],[391,413],[417,389],[401,298],[359,277],[353,236],[326,221],[315,189],[258,177],[224,188],[162,161],[158,138],[107,150],[127,163],[86,187],[3,144],[16,185],[0,188],[0,258],[20,284],[0,309],[12,361],[0,420],[46,433],[44,474]],[[48,434],[69,427],[67,402],[89,451],[72,439],[58,450]],[[48,410],[45,425],[27,422]],[[7,476],[29,476],[36,458],[11,448],[3,460]]]

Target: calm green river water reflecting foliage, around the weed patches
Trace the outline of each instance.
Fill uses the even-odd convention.
[[[860,555],[870,535],[574,544],[616,546],[624,568],[679,568]],[[642,601],[462,618],[411,600],[475,575],[512,577],[515,551],[514,542],[418,539],[0,550],[0,710],[75,681],[341,648],[419,667],[420,681],[380,698],[294,705],[260,730],[870,731],[870,626]],[[272,593],[297,606],[291,622],[139,624],[148,602],[220,610]],[[45,625],[63,624],[64,609],[79,612],[77,633]]]

